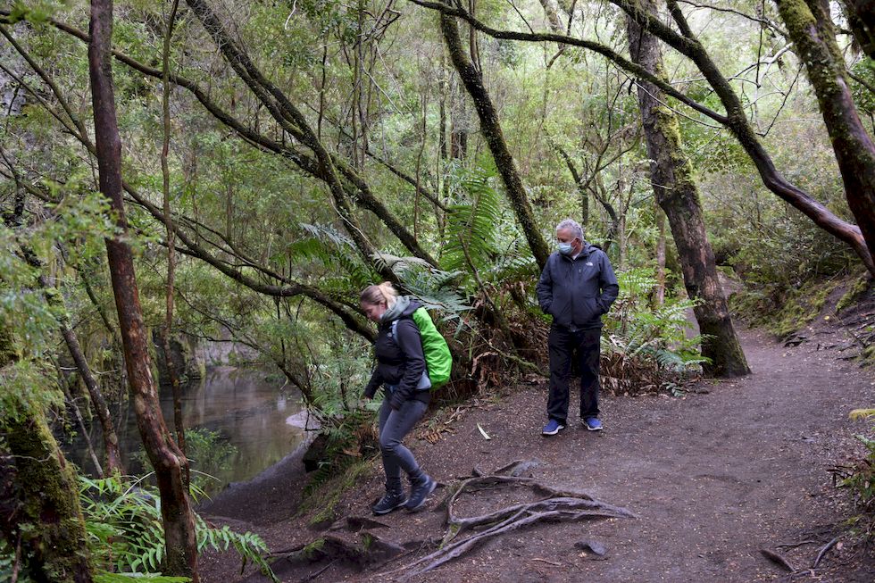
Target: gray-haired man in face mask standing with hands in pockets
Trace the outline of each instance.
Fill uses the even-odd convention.
[[[598,420],[598,366],[602,314],[620,286],[611,262],[598,246],[583,240],[580,225],[566,219],[556,226],[559,251],[547,258],[537,282],[537,302],[553,316],[550,350],[550,394],[543,435],[556,435],[568,420],[568,382],[571,357],[580,365],[580,421],[590,431],[602,429]]]

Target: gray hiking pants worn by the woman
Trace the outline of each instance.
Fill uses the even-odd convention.
[[[401,440],[420,421],[429,404],[416,399],[404,401],[398,410],[389,405],[388,391],[379,408],[379,453],[383,455],[383,470],[386,471],[387,492],[401,491],[401,471],[411,481],[420,479],[422,471],[409,449]]]

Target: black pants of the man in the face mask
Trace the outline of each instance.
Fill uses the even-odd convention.
[[[602,329],[571,332],[553,326],[547,346],[550,349],[550,394],[547,417],[565,424],[568,419],[568,383],[571,358],[580,368],[580,419],[598,417],[598,364]]]

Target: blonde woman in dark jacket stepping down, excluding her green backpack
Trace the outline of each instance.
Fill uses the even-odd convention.
[[[380,385],[384,387],[379,408],[379,451],[386,472],[386,495],[371,506],[371,511],[386,514],[402,506],[416,511],[437,486],[401,443],[431,401],[420,329],[412,320],[412,313],[421,304],[408,296],[398,296],[387,281],[365,287],[359,299],[362,311],[379,324],[374,345],[377,367],[364,388],[364,397],[370,399]],[[411,483],[410,496],[404,493],[402,471]]]

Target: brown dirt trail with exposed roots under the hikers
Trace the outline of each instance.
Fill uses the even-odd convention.
[[[875,404],[875,377],[839,360],[834,349],[818,350],[816,340],[783,347],[745,331],[743,341],[752,375],[704,382],[696,387],[701,393],[683,398],[604,397],[601,433],[588,432],[575,416],[558,436],[541,437],[546,387],[537,386],[472,408],[437,444],[414,443],[424,467],[444,483],[470,475],[474,466],[491,471],[513,460],[537,460],[534,478],[585,489],[639,516],[537,525],[414,580],[741,582],[786,577],[787,571],[761,554],[762,547],[778,550],[796,567],[809,566],[848,512],[846,496],[832,486],[828,470],[846,462],[852,449],[859,451],[852,436],[865,427],[848,421],[847,413]],[[572,398],[571,412],[576,410]],[[490,441],[480,435],[478,423]],[[263,484],[266,491],[283,489],[270,480]],[[368,515],[379,489],[375,472],[346,496],[340,512]],[[440,537],[443,512],[435,510],[441,492],[430,499],[429,511],[381,517],[387,528],[372,533],[410,546]],[[299,528],[289,512],[271,512],[252,495],[249,490],[236,504],[234,497],[225,498],[217,508],[254,524],[274,548],[319,536]],[[468,510],[487,512],[508,504],[507,496],[472,497]],[[606,547],[604,557],[574,546],[586,540]],[[812,542],[777,548],[804,540]],[[378,571],[356,572],[337,562],[313,580],[391,580],[397,575],[380,573],[415,556]],[[204,580],[234,580],[222,572],[223,563],[205,562]],[[325,563],[279,562],[277,567],[283,581],[298,581]],[[793,580],[868,582],[875,580],[875,564],[871,555],[850,554],[839,546],[817,570]]]

